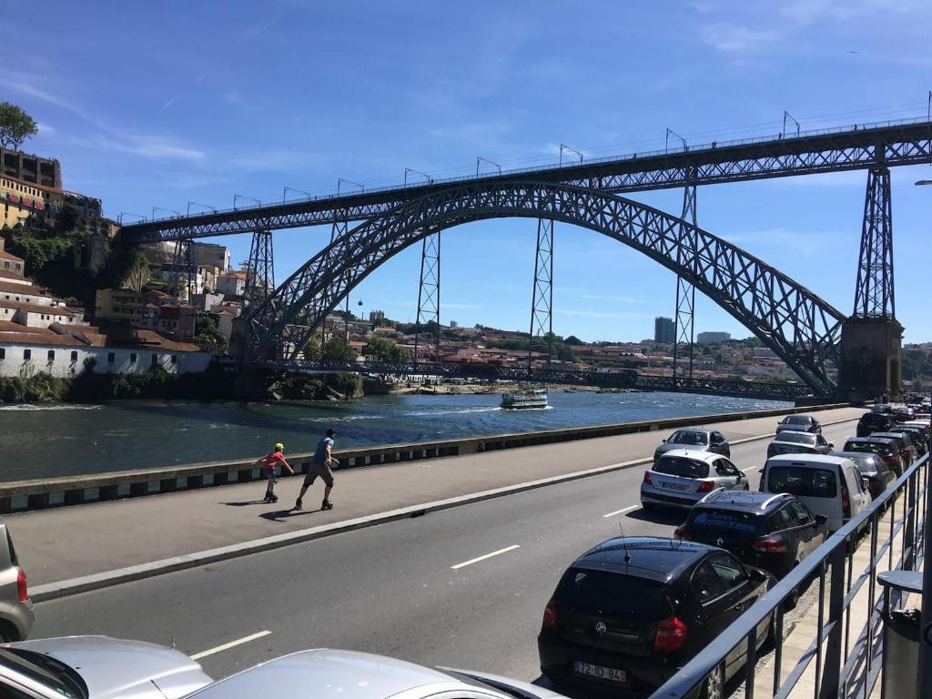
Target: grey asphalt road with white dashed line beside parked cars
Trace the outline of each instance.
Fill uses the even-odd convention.
[[[841,448],[855,425],[828,427],[825,436]],[[752,489],[767,444],[733,446]],[[32,637],[174,639],[190,654],[250,638],[199,658],[216,678],[320,647],[539,678],[541,614],[569,563],[622,528],[628,536],[672,536],[682,522],[678,512],[640,510],[643,472],[607,473],[44,602]]]

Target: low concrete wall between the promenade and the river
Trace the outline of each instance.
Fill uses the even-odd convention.
[[[522,446],[596,439],[632,432],[674,430],[678,427],[713,422],[731,422],[792,413],[809,413],[848,406],[849,404],[826,404],[799,408],[757,410],[751,413],[724,413],[721,415],[622,422],[611,425],[574,427],[541,432],[493,434],[435,442],[342,449],[336,451],[335,456],[340,460],[341,468],[361,468],[417,459],[456,457],[463,454],[514,449]],[[302,452],[289,454],[287,458],[293,465],[297,466],[295,473],[305,473],[308,468],[308,461],[312,456],[312,452]],[[225,486],[231,483],[255,481],[262,478],[262,474],[259,469],[253,467],[253,463],[254,459],[208,461],[156,469],[136,469],[112,473],[62,476],[61,478],[10,481],[0,484],[0,513],[42,510],[48,507],[79,505],[103,500],[139,498],[146,495],[172,493],[200,487]]]

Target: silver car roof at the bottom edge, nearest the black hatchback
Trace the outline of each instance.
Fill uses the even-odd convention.
[[[190,694],[197,699],[253,699],[256,696],[332,696],[384,699],[423,688],[418,694],[468,688],[449,675],[383,655],[358,651],[299,651],[254,665]]]

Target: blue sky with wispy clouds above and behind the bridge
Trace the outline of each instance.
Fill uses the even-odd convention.
[[[7,4],[7,0],[3,0]],[[925,116],[932,89],[925,0],[781,3],[43,3],[0,46],[0,101],[40,124],[26,149],[62,160],[64,185],[104,210],[228,208],[346,178],[401,182],[781,130]],[[12,4],[7,15],[12,10]],[[897,308],[905,341],[932,340],[925,299],[932,167],[893,173]],[[700,188],[700,226],[851,312],[866,174]],[[678,213],[680,190],[635,196]],[[168,212],[161,210],[158,215]],[[131,217],[128,217],[128,219]],[[525,328],[536,223],[460,226],[443,241],[442,319]],[[276,233],[291,274],[329,227]],[[220,239],[224,240],[224,239]],[[224,240],[234,260],[247,237]],[[675,279],[596,233],[557,225],[555,332],[652,336]],[[418,250],[353,291],[353,307],[413,319]],[[748,336],[697,299],[696,331]]]

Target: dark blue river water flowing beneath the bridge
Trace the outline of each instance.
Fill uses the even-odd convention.
[[[0,481],[312,450],[744,412],[777,401],[679,393],[550,394],[546,410],[502,410],[499,394],[386,395],[345,403],[114,401],[0,406]]]

